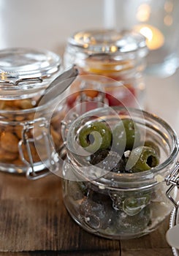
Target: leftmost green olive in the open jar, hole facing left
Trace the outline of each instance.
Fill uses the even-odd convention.
[[[80,146],[94,153],[99,149],[109,148],[112,141],[110,127],[104,122],[93,122],[85,125],[79,132]]]

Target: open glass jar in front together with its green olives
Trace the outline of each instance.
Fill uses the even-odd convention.
[[[73,115],[62,126],[63,197],[69,214],[83,229],[105,238],[151,233],[176,200],[175,131],[156,115],[134,108],[104,106]]]

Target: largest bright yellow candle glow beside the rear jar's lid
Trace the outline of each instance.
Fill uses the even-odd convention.
[[[154,26],[141,24],[135,26],[134,29],[146,37],[146,43],[150,50],[156,50],[164,45],[164,35]]]

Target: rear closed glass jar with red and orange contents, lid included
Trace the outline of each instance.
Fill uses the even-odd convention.
[[[83,99],[145,108],[143,70],[147,53],[145,37],[134,31],[89,30],[73,34],[66,44],[64,67],[76,64],[80,76],[67,103],[73,106]]]

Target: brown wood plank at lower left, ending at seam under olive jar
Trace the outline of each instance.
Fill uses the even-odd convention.
[[[0,251],[118,250],[118,241],[86,233],[69,217],[60,178],[39,181],[0,173]]]

